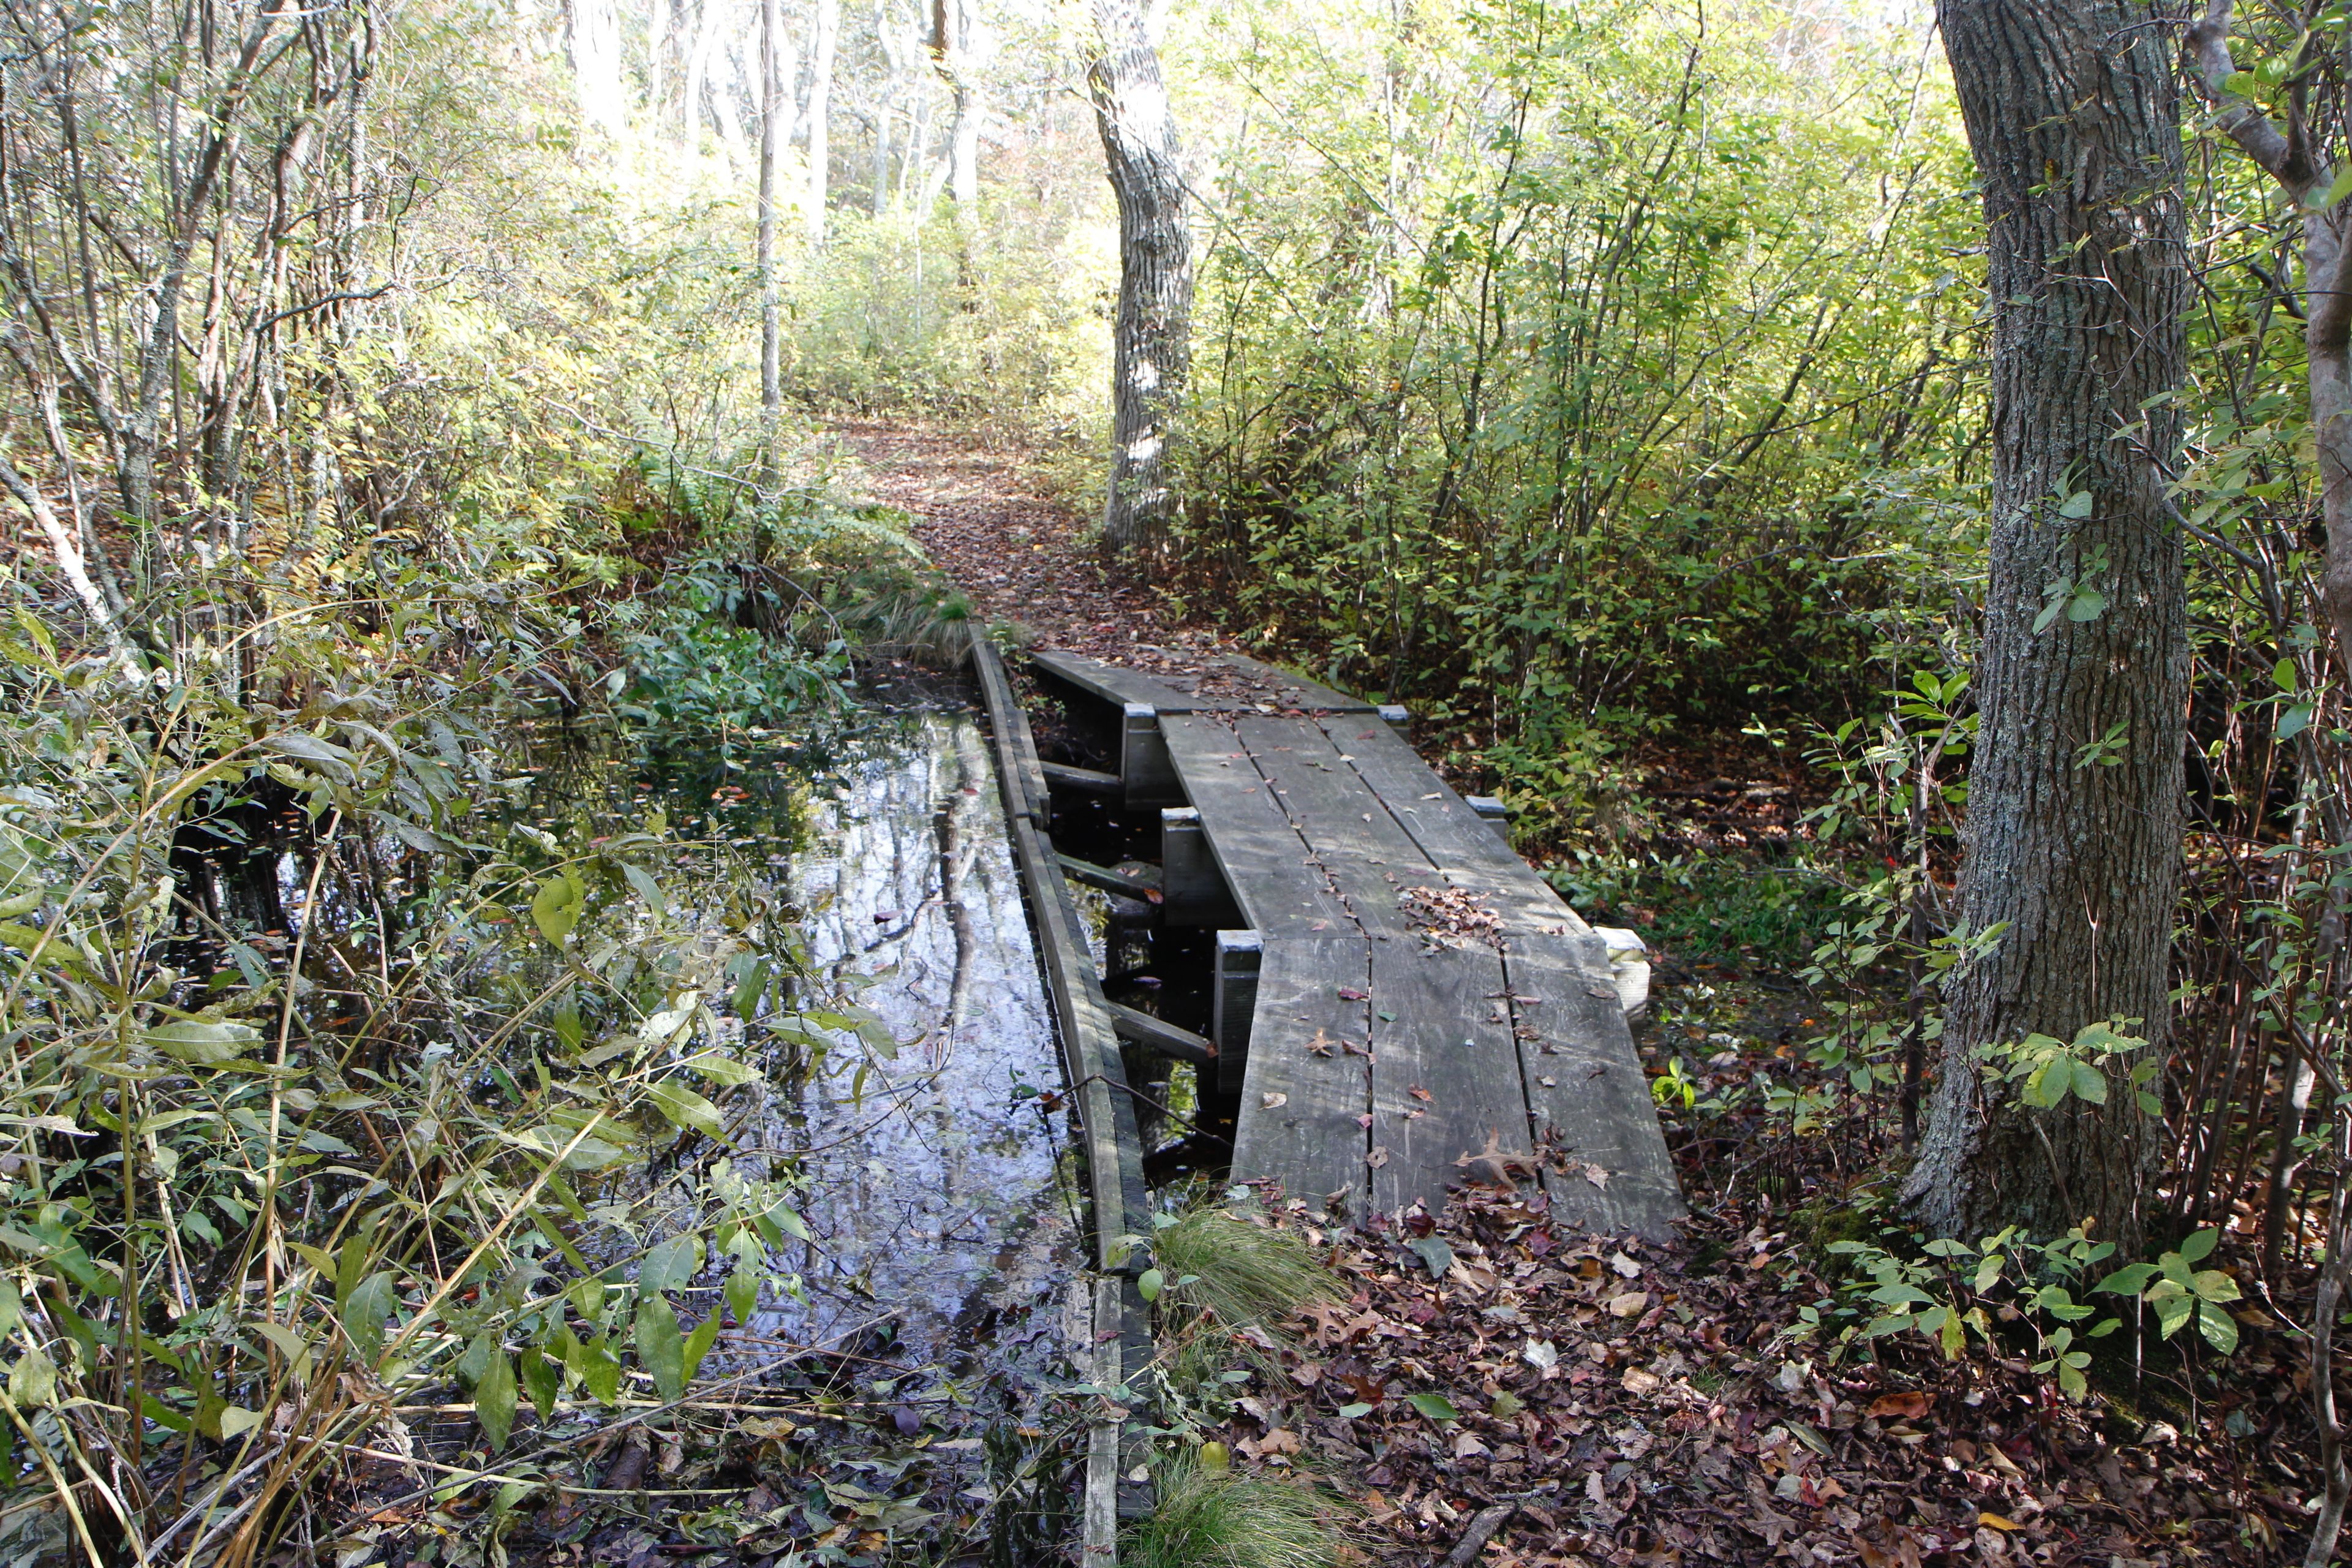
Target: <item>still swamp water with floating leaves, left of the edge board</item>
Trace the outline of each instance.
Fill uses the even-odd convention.
[[[675,1046],[760,1067],[720,1095],[729,1135],[656,1150],[607,1194],[626,1204],[590,1199],[628,1229],[600,1246],[583,1234],[583,1251],[600,1265],[659,1253],[741,1182],[776,1182],[795,1211],[764,1260],[788,1288],[762,1288],[720,1335],[701,1385],[722,1392],[682,1413],[684,1458],[663,1455],[652,1479],[736,1495],[687,1514],[588,1509],[541,1535],[546,1561],[694,1542],[779,1566],[1061,1561],[1082,1448],[1061,1396],[1082,1267],[1070,1128],[971,712],[863,708],[659,762],[607,733],[548,731],[517,764],[527,830],[652,835],[666,917],[729,954],[727,976],[757,997],[713,1001],[720,1037]],[[722,1262],[682,1291],[694,1316],[720,1309]],[[440,1556],[487,1561],[480,1542]]]

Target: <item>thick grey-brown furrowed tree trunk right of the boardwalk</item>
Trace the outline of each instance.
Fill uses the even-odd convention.
[[[1959,877],[1999,936],[1947,990],[1915,1215],[1976,1239],[2091,1220],[2124,1255],[2157,1124],[2129,1070],[2164,1048],[2185,818],[2187,609],[2166,475],[2187,256],[2166,12],[1940,0],[1990,223],[1992,574]],[[2032,1110],[1983,1046],[2143,1020],[2105,1105]]]

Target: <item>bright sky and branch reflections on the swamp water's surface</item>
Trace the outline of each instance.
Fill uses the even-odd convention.
[[[898,1312],[906,1349],[931,1354],[967,1305],[1040,1305],[1068,1237],[1051,1133],[1021,1093],[1058,1081],[1054,1027],[971,717],[917,715],[851,743],[788,877],[811,964],[903,1044],[880,1063],[835,1053],[797,1095],[776,1088],[764,1143],[807,1150],[816,1255],[807,1305],[762,1328],[828,1342]]]

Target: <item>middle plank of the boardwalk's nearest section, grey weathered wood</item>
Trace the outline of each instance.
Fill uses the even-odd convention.
[[[1484,1150],[1489,1133],[1531,1154],[1503,957],[1484,943],[1374,943],[1369,1159],[1383,1161],[1371,1171],[1374,1206],[1388,1213],[1423,1199],[1439,1208],[1461,1175],[1454,1161]]]

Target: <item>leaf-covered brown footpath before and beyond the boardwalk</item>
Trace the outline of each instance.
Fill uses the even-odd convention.
[[[1237,651],[1105,576],[1018,451],[887,423],[835,435],[981,616],[1136,668]],[[1646,1041],[1651,1067],[1663,1048]],[[2185,1568],[2274,1563],[2307,1528],[2303,1455],[2230,1425],[2060,1401],[2025,1359],[1945,1361],[1919,1335],[1835,1356],[1809,1316],[1839,1295],[1820,1272],[1835,1215],[1776,1204],[1696,1143],[1675,1154],[1693,1213],[1668,1241],[1583,1234],[1524,1187],[1343,1234],[1303,1201],[1265,1215],[1345,1300],[1296,1321],[1284,1375],[1207,1436],[1242,1472],[1336,1488],[1350,1552],[1397,1568]],[[2270,1359],[2237,1368],[2246,1387],[2303,1396],[2281,1335],[2241,1354]],[[2171,1356],[2150,1335],[2150,1366]]]

